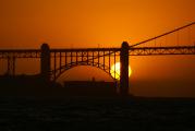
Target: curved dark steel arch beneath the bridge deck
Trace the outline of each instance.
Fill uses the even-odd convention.
[[[111,75],[114,71],[111,71],[108,66],[102,64],[102,63],[98,63],[98,62],[89,62],[89,61],[88,62],[84,62],[84,61],[70,62],[70,63],[68,63],[65,66],[61,66],[60,68],[58,68],[56,70],[51,70],[51,80],[57,81],[65,71],[71,70],[71,69],[73,69],[75,67],[80,67],[80,66],[88,66],[88,67],[94,67],[94,68],[100,69],[103,72],[106,72],[107,74],[109,74],[109,76],[114,82],[118,82],[118,80],[115,78],[118,78],[120,74],[118,74],[115,72],[115,78],[114,78],[114,76]]]

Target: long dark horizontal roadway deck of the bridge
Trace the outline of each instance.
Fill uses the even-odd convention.
[[[120,51],[121,48],[77,48],[77,49],[50,49],[50,52],[95,52],[95,51]],[[130,56],[150,55],[195,55],[195,46],[172,46],[172,47],[133,47],[130,48]],[[0,59],[8,57],[15,58],[39,58],[40,49],[1,49]],[[111,52],[111,53],[112,53]]]

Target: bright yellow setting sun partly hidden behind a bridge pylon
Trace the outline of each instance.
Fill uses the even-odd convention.
[[[120,80],[120,62],[117,62],[115,64],[112,64],[112,67],[110,69],[110,73],[111,73],[112,78],[115,78],[117,80]],[[132,69],[129,66],[129,76],[131,76],[131,74],[132,74]]]

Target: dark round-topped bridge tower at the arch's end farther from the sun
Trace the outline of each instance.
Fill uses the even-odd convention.
[[[44,82],[49,83],[50,81],[50,48],[48,44],[41,45],[40,55],[40,75]]]

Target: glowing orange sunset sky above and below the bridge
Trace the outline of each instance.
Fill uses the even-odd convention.
[[[0,0],[0,48],[40,48],[42,43],[50,48],[132,45],[194,22],[194,0]],[[131,93],[195,96],[194,57],[131,57]],[[19,63],[17,72],[28,71],[25,67]],[[62,78],[80,79],[86,70],[86,80],[95,75],[110,81],[89,67]]]

